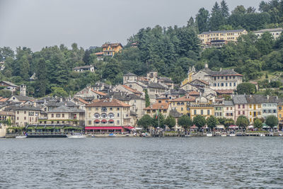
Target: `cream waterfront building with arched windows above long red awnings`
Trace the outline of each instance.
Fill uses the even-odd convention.
[[[105,98],[86,105],[86,130],[122,131],[131,124],[131,105]]]

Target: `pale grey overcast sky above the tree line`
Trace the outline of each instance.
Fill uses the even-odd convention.
[[[220,2],[219,0],[217,0]],[[226,0],[258,8],[261,0]],[[0,0],[0,47],[42,47],[76,42],[80,47],[121,42],[141,28],[182,26],[215,0]]]

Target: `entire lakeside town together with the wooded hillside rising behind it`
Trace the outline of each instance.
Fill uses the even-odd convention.
[[[282,136],[283,28],[272,2],[231,14],[216,2],[211,15],[143,28],[125,46],[3,47],[0,137]]]

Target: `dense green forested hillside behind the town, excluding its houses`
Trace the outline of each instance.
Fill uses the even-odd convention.
[[[28,47],[18,47],[13,52],[9,47],[2,47],[0,59],[6,67],[0,79],[27,84],[28,95],[35,97],[72,95],[98,80],[122,83],[122,75],[129,71],[144,75],[156,70],[180,84],[190,66],[202,69],[205,62],[214,70],[233,68],[243,74],[246,81],[268,79],[270,73],[283,71],[283,35],[274,40],[269,33],[258,38],[251,31],[278,27],[283,27],[283,0],[262,1],[258,10],[244,6],[229,10],[226,2],[221,1],[221,4],[215,3],[211,11],[200,8],[185,26],[142,28],[129,37],[122,52],[104,61],[98,61],[94,55],[100,48],[83,50],[76,43],[71,49],[60,45],[44,47],[40,52],[32,52]],[[229,43],[221,49],[201,50],[198,33],[240,28],[249,33],[238,43]],[[130,47],[132,42],[137,42],[138,47]],[[96,67],[95,73],[72,71],[74,67],[89,64]],[[29,81],[33,73],[37,74],[37,79]]]

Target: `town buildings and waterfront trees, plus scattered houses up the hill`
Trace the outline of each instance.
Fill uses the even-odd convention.
[[[282,28],[260,30],[277,38]],[[203,48],[222,47],[219,42],[236,41],[246,30],[209,31],[199,35]],[[234,37],[228,37],[234,36]],[[222,44],[223,45],[223,44]],[[132,43],[137,47],[137,42]],[[122,50],[120,43],[105,43],[96,52],[98,61]],[[3,64],[4,66],[4,64]],[[78,73],[94,72],[95,67],[74,67]],[[33,75],[31,80],[36,79]],[[243,75],[233,69],[212,71],[194,66],[181,84],[149,71],[146,76],[127,73],[122,84],[112,86],[101,81],[89,84],[74,96],[33,98],[26,95],[25,84],[17,86],[1,81],[10,98],[1,97],[1,137],[6,134],[52,134],[84,132],[89,136],[168,132],[167,135],[282,135],[283,98],[238,94]],[[258,88],[256,83],[250,83]],[[250,86],[248,86],[250,87]],[[18,94],[18,95],[17,95]],[[229,133],[227,133],[229,132]],[[270,134],[272,132],[272,134]],[[181,133],[181,134],[180,134]],[[196,134],[197,133],[197,134]],[[125,135],[126,136],[126,135]]]

